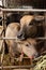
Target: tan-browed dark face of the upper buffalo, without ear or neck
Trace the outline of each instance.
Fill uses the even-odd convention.
[[[28,37],[35,37],[36,26],[32,26],[34,19],[33,15],[25,15],[20,19],[20,31],[18,33],[19,39],[25,39]]]

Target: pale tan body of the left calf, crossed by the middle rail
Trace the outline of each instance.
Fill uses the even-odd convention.
[[[11,23],[5,31],[5,38],[15,38],[17,39],[17,33],[20,29],[20,26],[18,23]],[[5,40],[7,47],[9,47],[9,52],[10,52],[10,56],[14,57],[15,54],[17,53],[17,44],[15,43],[15,40]]]

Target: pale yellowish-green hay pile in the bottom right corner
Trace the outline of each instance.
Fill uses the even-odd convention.
[[[42,55],[34,60],[34,68],[33,70],[46,70],[46,55]]]

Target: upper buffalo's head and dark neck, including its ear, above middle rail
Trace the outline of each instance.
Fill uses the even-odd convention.
[[[35,38],[44,34],[43,16],[25,15],[20,19],[19,39]],[[41,26],[42,25],[42,26]]]

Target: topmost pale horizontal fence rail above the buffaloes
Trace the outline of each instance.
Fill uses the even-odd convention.
[[[3,12],[46,12],[46,10],[42,9],[1,9]]]

